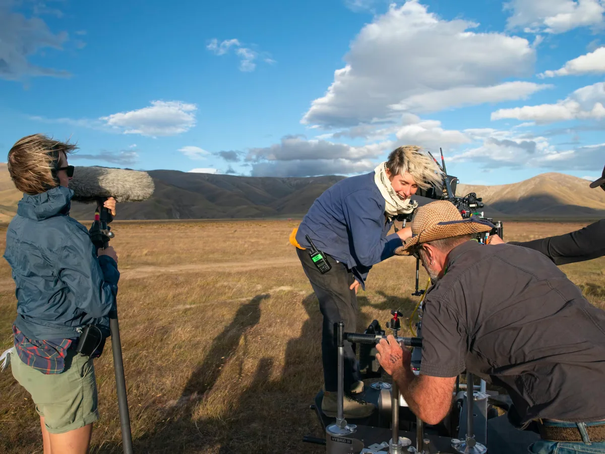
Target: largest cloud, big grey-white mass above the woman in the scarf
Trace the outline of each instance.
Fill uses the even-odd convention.
[[[322,128],[397,120],[462,105],[523,99],[541,88],[502,82],[529,76],[535,49],[527,39],[479,33],[473,22],[446,21],[410,0],[365,25],[324,96],[301,122]]]

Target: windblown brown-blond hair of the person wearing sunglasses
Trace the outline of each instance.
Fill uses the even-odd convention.
[[[60,152],[67,154],[77,146],[53,140],[44,134],[19,139],[8,152],[8,173],[19,191],[35,195],[59,186],[56,173]]]

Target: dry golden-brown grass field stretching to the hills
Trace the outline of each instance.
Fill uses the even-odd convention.
[[[561,234],[586,223],[505,225],[507,240]],[[116,223],[122,272],[120,332],[134,451],[321,453],[309,410],[322,384],[321,314],[288,235],[296,222]],[[4,251],[6,226],[0,228]],[[411,314],[412,258],[374,267],[359,292],[358,329],[390,309]],[[605,308],[605,258],[562,267]],[[424,271],[421,282],[426,282]],[[15,318],[10,268],[0,262],[0,351]],[[119,453],[111,346],[95,361],[101,419],[92,453]],[[0,373],[0,452],[42,452],[33,403]]]

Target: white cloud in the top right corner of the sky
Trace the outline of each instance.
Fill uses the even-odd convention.
[[[526,32],[564,33],[576,27],[603,25],[603,0],[512,0],[505,3],[511,10],[509,29]]]

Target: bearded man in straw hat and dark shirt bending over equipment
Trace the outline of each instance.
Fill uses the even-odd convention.
[[[605,453],[605,312],[545,255],[473,241],[492,225],[462,219],[446,201],[416,210],[397,255],[422,260],[433,281],[424,299],[420,374],[392,336],[376,356],[410,409],[441,421],[465,369],[504,387],[512,419],[538,421],[533,453]]]

